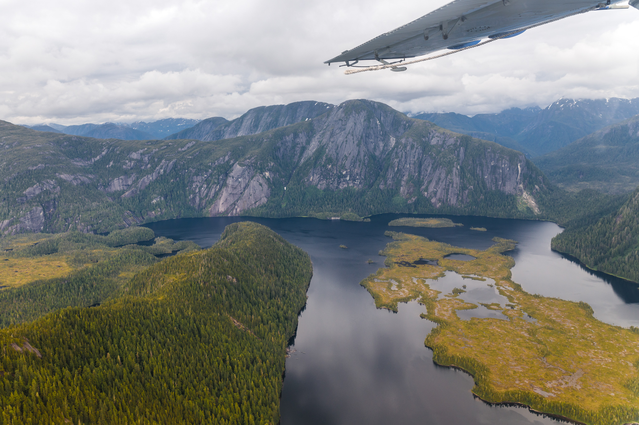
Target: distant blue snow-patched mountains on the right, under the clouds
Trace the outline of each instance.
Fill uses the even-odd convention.
[[[639,114],[639,98],[559,99],[548,107],[511,108],[473,117],[459,113],[421,113],[457,133],[491,140],[530,157],[548,154],[594,131]]]

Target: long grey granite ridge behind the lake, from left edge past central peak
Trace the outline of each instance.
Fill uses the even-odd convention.
[[[100,232],[246,213],[543,216],[547,182],[521,152],[373,101],[299,106],[290,116],[256,108],[222,126],[296,124],[215,141],[98,140],[0,122],[2,231]]]

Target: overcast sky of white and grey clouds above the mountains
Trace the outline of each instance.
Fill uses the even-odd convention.
[[[447,0],[0,0],[0,119],[232,119],[367,98],[402,112],[499,112],[639,97],[639,10],[595,11],[410,66],[322,64]]]

